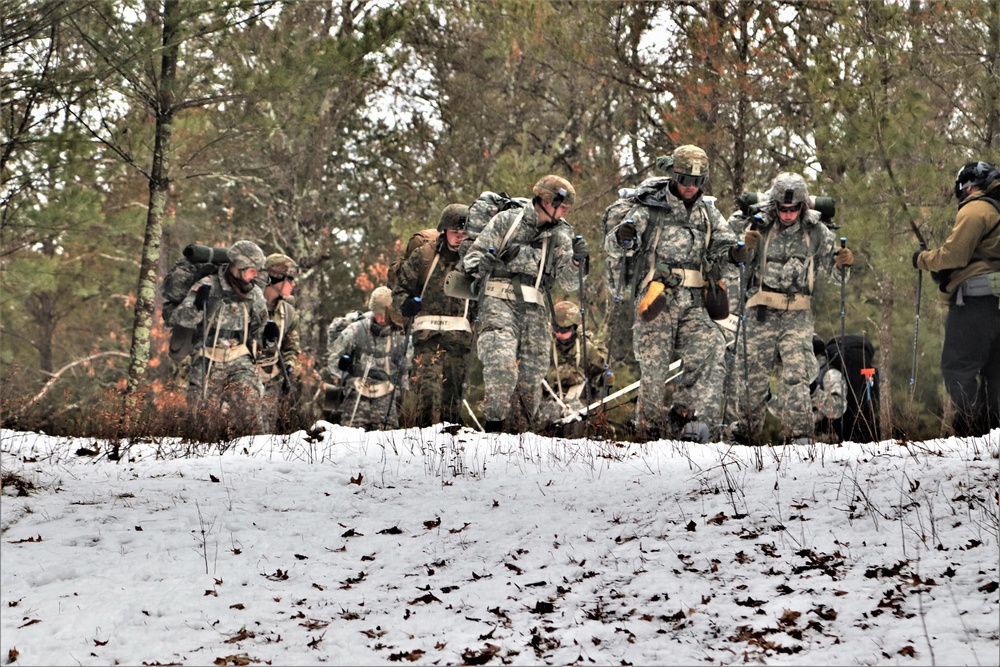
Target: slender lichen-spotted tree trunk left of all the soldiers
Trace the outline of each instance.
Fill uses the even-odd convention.
[[[142,262],[136,290],[135,316],[132,324],[132,345],[129,349],[128,386],[123,406],[126,416],[129,407],[136,404],[136,390],[146,374],[150,355],[150,332],[156,301],[157,268],[160,264],[160,246],[163,240],[163,218],[170,187],[170,151],[174,123],[174,85],[177,77],[179,0],[165,0],[163,14],[151,12],[149,20],[162,20],[163,51],[159,85],[156,96],[150,98],[151,111],[156,115],[156,137],[153,146],[153,164],[149,172],[149,208],[146,215],[146,233],[142,245]]]

